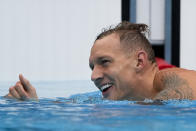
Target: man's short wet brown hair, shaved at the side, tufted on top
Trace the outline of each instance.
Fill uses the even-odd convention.
[[[148,60],[152,63],[155,62],[154,50],[146,38],[146,34],[149,33],[146,24],[135,24],[123,21],[115,27],[103,29],[102,33],[97,36],[96,40],[100,40],[114,33],[119,35],[120,43],[126,51],[131,53],[137,49],[143,49],[148,54]]]

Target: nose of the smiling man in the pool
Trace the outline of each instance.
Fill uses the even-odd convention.
[[[101,68],[99,68],[98,66],[95,66],[94,69],[92,70],[91,80],[95,82],[102,78],[103,78],[103,72]]]

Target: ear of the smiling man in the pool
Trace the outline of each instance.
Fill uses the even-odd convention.
[[[143,50],[140,50],[136,53],[137,57],[137,65],[136,65],[136,71],[140,72],[147,63],[147,53]]]

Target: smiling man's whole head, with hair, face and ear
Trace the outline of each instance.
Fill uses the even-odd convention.
[[[102,32],[91,49],[91,79],[112,100],[143,99],[140,87],[147,64],[155,63],[154,52],[145,37],[145,24],[122,22]]]

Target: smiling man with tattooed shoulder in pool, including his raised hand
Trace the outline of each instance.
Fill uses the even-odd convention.
[[[102,32],[91,49],[91,80],[106,99],[196,99],[196,72],[182,68],[159,70],[147,40],[145,24],[122,22]],[[9,98],[37,99],[22,75],[9,89]]]

